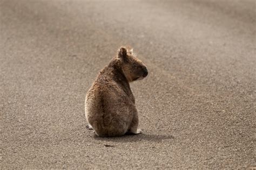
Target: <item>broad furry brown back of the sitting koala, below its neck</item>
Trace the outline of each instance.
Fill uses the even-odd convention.
[[[122,136],[129,129],[134,112],[129,95],[107,77],[98,77],[86,95],[86,119],[98,136]]]

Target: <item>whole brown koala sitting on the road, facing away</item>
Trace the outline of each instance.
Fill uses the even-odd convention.
[[[100,137],[139,134],[138,111],[129,83],[147,76],[147,67],[132,48],[120,47],[110,63],[100,70],[85,98],[87,128]]]

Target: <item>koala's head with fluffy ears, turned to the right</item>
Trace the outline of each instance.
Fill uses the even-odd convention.
[[[147,67],[132,53],[132,48],[120,47],[117,59],[121,61],[123,73],[129,82],[142,80],[147,76]]]

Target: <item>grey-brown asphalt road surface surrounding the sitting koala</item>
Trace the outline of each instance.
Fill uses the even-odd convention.
[[[255,9],[1,0],[1,169],[255,167]],[[131,84],[143,134],[99,138],[85,94],[127,44],[149,69]]]

